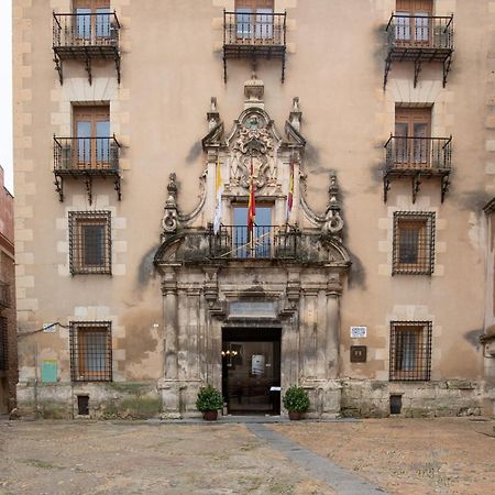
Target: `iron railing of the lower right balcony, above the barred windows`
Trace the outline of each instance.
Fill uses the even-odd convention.
[[[450,172],[452,162],[452,136],[403,138],[391,135],[385,143],[386,172],[430,170]]]

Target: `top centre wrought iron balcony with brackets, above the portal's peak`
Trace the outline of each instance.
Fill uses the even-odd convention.
[[[280,58],[285,78],[286,13],[223,11],[223,79],[228,58]]]

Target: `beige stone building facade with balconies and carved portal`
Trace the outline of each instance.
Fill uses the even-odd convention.
[[[72,32],[76,47],[91,40],[64,28],[69,0],[14,0],[20,414],[189,416],[208,383],[229,413],[262,386],[276,413],[278,388],[298,384],[314,416],[386,416],[394,400],[405,416],[491,414],[495,2],[432,2],[444,25],[415,35],[422,50],[453,33],[453,54],[391,65],[405,36],[395,0],[275,0],[284,51],[271,21],[254,67],[222,61],[261,32],[233,24],[228,52],[233,0],[110,3],[117,18],[87,24],[108,30],[108,57],[85,64],[88,51],[53,52]],[[111,144],[85,160],[78,107],[109,112]],[[396,173],[407,146],[389,136],[408,112],[419,133],[414,109],[431,144]],[[268,222],[257,243],[239,233],[251,191]],[[246,354],[252,342],[272,350]],[[241,371],[251,385],[235,388]]]

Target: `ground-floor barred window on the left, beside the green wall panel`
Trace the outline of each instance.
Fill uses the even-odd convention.
[[[112,330],[111,321],[70,321],[70,380],[73,382],[111,382],[113,380]],[[90,333],[105,333],[103,370],[87,370],[88,360],[95,358],[101,364],[101,352],[88,354],[87,344]]]

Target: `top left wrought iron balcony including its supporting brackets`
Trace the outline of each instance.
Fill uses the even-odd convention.
[[[53,51],[61,85],[64,84],[63,62],[85,63],[89,84],[92,81],[91,61],[111,59],[120,82],[120,22],[116,12],[53,14]]]

